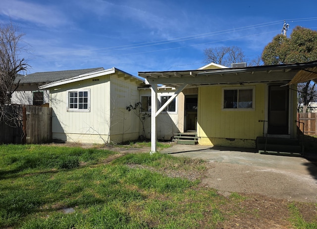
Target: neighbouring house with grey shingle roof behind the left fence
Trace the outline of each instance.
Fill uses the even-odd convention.
[[[99,67],[79,70],[36,72],[29,75],[18,74],[14,80],[13,87],[17,87],[17,89],[12,94],[11,104],[43,106],[49,103],[50,95],[49,90],[40,90],[39,86],[100,70],[105,69]]]

